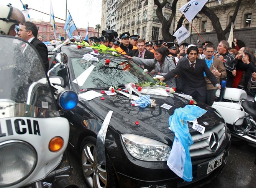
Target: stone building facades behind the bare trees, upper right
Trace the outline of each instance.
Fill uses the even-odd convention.
[[[172,3],[172,0],[170,0]],[[187,3],[187,0],[179,0],[176,8],[176,18],[172,22],[170,33],[176,30],[177,21],[182,16],[179,8]],[[222,0],[221,5],[218,0],[208,0],[206,6],[212,9],[218,16],[223,29],[228,25],[235,10],[236,0]],[[141,38],[148,41],[162,39],[161,23],[156,16],[156,5],[153,0],[103,0],[102,1],[102,30],[113,29],[120,35],[123,32],[139,34]],[[171,15],[171,8],[163,8],[166,19]],[[203,37],[204,41],[211,41],[217,47],[218,39],[209,18],[201,14],[199,18],[193,20],[193,26]],[[184,42],[194,43],[198,39],[202,43],[199,35],[191,29],[188,21],[183,25],[191,32],[191,37]],[[226,34],[228,39],[229,32]],[[243,0],[233,23],[233,35],[241,44],[256,49],[256,2],[255,0]],[[173,42],[173,41],[168,41]]]

